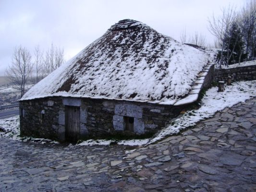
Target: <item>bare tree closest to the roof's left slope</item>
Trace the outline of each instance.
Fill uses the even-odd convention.
[[[47,74],[53,72],[64,63],[64,49],[51,44],[51,47],[45,52],[44,65]]]

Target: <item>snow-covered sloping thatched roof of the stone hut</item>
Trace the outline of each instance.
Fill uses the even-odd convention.
[[[21,100],[47,96],[172,104],[187,95],[208,54],[134,20],[122,20]]]

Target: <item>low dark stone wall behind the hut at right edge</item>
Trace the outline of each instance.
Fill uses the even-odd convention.
[[[215,69],[214,81],[225,81],[227,82],[228,76],[234,75],[234,81],[256,80],[256,65],[236,67],[230,69]]]

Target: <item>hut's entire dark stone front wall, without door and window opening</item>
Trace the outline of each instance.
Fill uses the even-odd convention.
[[[20,101],[21,134],[65,140],[65,105],[80,107],[80,138],[107,134],[157,132],[187,106],[166,106],[134,101],[48,97]],[[124,117],[134,118],[133,132]]]

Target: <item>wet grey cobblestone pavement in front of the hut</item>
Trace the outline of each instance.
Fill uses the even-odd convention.
[[[2,138],[0,152],[2,192],[253,192],[256,97],[146,147],[69,147]]]

